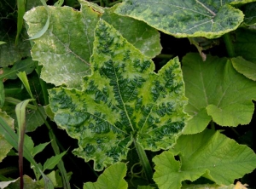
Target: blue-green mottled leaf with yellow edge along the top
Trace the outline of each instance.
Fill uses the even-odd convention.
[[[126,0],[115,13],[143,20],[175,37],[216,38],[236,30],[243,21],[241,10],[229,3],[247,1]]]

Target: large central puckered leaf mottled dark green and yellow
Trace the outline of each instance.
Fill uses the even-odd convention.
[[[153,61],[104,20],[95,35],[83,90],[49,90],[55,123],[79,140],[74,153],[102,170],[125,159],[132,141],[145,150],[170,148],[188,117],[179,61],[156,74]]]

